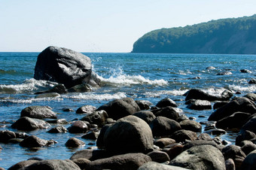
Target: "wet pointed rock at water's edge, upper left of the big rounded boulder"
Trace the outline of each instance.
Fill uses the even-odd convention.
[[[81,120],[87,121],[90,124],[96,124],[99,127],[105,125],[105,121],[108,119],[108,114],[106,111],[94,111],[92,114],[87,114]]]

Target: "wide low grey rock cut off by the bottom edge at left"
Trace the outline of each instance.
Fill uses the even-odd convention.
[[[26,166],[25,168],[22,168],[23,170],[34,170],[34,169],[49,169],[49,170],[59,170],[59,169],[67,169],[67,170],[81,170],[78,165],[75,164],[75,162],[72,162],[69,159],[46,159],[37,161],[35,163],[32,163],[29,166]]]

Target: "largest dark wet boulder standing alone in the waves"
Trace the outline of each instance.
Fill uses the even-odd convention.
[[[66,88],[70,88],[89,83],[91,73],[89,57],[66,48],[50,46],[38,55],[34,78],[63,83]]]

